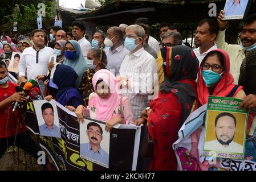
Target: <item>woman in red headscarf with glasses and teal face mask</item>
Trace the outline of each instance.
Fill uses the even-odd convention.
[[[233,84],[229,72],[229,55],[222,49],[210,51],[200,64],[197,80],[197,94],[201,105],[208,102],[208,96],[234,97],[243,99],[242,86]]]

